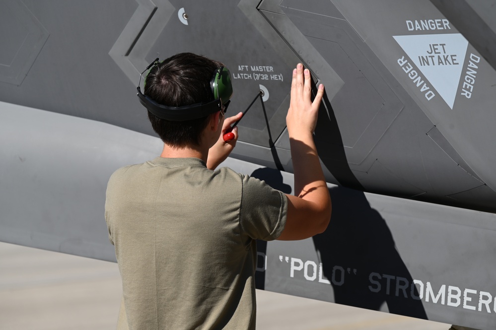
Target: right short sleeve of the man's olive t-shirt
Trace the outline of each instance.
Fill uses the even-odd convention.
[[[242,182],[241,228],[252,239],[277,239],[286,224],[286,195],[256,178],[242,176]]]

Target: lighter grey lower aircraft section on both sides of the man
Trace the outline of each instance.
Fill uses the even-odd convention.
[[[0,105],[0,240],[115,261],[103,218],[106,182],[114,169],[154,158],[161,141]],[[222,165],[292,192],[290,173],[232,158]],[[495,214],[335,185],[329,191],[333,216],[326,232],[258,243],[259,288],[478,329],[496,326]]]

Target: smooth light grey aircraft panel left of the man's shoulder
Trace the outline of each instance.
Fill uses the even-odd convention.
[[[115,261],[104,219],[108,179],[159,155],[160,139],[4,102],[0,109],[0,240]]]

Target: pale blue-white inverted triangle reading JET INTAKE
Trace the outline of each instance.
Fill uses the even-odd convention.
[[[468,41],[460,33],[393,36],[453,109]]]

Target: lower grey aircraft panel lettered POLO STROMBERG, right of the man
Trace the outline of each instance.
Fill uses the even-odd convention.
[[[339,187],[330,192],[335,207],[329,232],[312,240],[269,242],[259,255],[265,289],[494,328],[493,265],[484,260],[492,260],[495,248],[476,243],[493,241],[494,218],[467,225],[473,214],[455,208],[379,200]],[[437,212],[446,217],[434,219]]]

